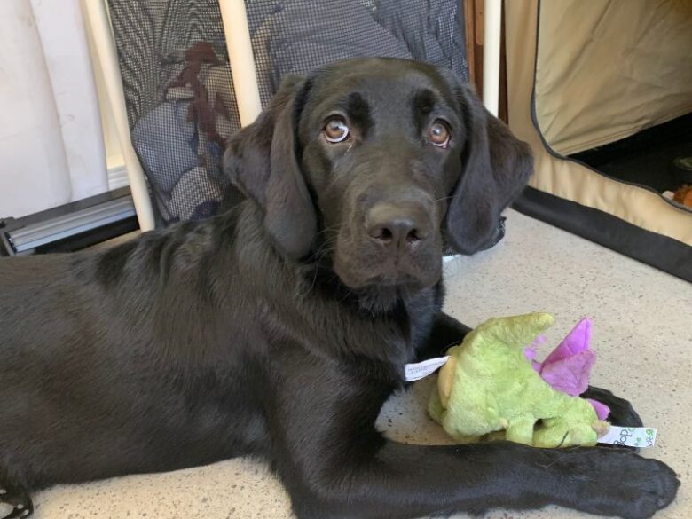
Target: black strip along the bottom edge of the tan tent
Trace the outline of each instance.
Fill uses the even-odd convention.
[[[650,232],[599,209],[527,187],[513,206],[567,232],[692,283],[692,247]]]

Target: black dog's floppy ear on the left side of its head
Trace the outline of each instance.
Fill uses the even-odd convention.
[[[291,259],[310,252],[317,231],[295,142],[309,88],[303,76],[287,76],[269,106],[231,138],[224,154],[225,173],[262,208],[267,233]]]

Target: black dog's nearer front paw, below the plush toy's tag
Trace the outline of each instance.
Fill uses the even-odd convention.
[[[597,515],[647,519],[667,507],[680,480],[658,460],[641,458],[624,449],[587,449],[575,452],[568,473],[578,474],[577,508]]]

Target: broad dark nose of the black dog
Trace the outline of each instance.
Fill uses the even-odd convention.
[[[413,247],[429,235],[429,218],[417,206],[378,204],[366,217],[366,231],[382,246],[399,250]]]

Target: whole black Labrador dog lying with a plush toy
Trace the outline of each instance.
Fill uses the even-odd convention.
[[[354,59],[288,78],[232,139],[238,207],[105,252],[0,261],[11,516],[46,485],[244,455],[268,460],[301,519],[667,506],[675,474],[633,452],[398,444],[374,427],[405,363],[468,331],[440,310],[443,251],[497,241],[531,167],[450,73]]]

